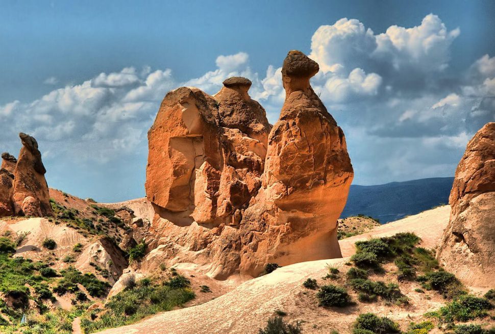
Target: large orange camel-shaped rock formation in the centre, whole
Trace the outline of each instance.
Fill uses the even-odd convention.
[[[189,262],[223,279],[255,276],[269,262],[341,256],[336,225],[353,169],[309,83],[317,72],[301,52],[288,54],[273,129],[245,78],[227,79],[213,96],[187,87],[165,96],[148,133],[155,218],[143,269]]]

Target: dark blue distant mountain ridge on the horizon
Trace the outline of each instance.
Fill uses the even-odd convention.
[[[376,186],[352,185],[341,218],[371,216],[380,223],[415,215],[449,202],[454,177],[422,178]]]

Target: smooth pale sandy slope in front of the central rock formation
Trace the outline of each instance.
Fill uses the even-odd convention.
[[[423,239],[422,245],[431,248],[437,245],[444,227],[449,220],[450,207],[440,207],[404,218],[397,222],[378,226],[370,232],[340,241],[344,256],[354,253],[354,242],[370,237],[392,236],[399,232],[414,232]],[[139,323],[105,330],[105,334],[146,333],[146,334],[211,334],[211,333],[257,333],[275,310],[288,313],[286,321],[304,320],[303,332],[328,333],[336,328],[340,333],[351,332],[353,321],[363,312],[374,312],[400,322],[404,327],[410,321],[419,320],[420,315],[437,309],[443,299],[433,292],[426,295],[414,292],[416,283],[401,284],[401,291],[411,298],[410,305],[386,306],[382,301],[370,304],[358,303],[344,309],[325,309],[317,306],[315,292],[302,287],[308,277],[318,284],[331,284],[321,277],[327,274],[326,264],[348,270],[344,265],[348,258],[304,262],[277,269],[239,285],[233,291],[201,305],[157,314]],[[386,268],[388,269],[388,268]],[[389,277],[390,276],[390,277]],[[377,279],[378,277],[374,278]],[[395,279],[392,275],[381,277],[385,281]],[[336,282],[341,285],[343,282]],[[357,300],[353,293],[353,300]]]

